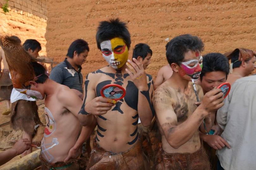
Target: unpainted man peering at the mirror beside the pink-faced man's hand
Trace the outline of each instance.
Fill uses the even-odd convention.
[[[202,86],[205,94],[226,82],[228,74],[229,60],[227,57],[220,53],[209,53],[203,57],[203,68],[200,74],[200,81],[197,81],[196,83]],[[210,159],[211,168],[216,169],[218,160],[215,155],[216,150],[222,149],[225,146],[230,148],[230,145],[220,136],[222,130],[216,121],[216,112],[212,112],[210,118],[212,120],[211,129],[214,130],[214,135],[207,135],[203,131],[203,133],[200,133],[200,138],[206,142],[204,143],[204,148]]]

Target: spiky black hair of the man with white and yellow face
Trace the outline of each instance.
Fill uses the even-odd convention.
[[[122,38],[127,48],[130,48],[131,36],[124,22],[120,21],[119,18],[101,21],[96,33],[97,47],[101,50],[103,41],[111,40],[115,37]]]

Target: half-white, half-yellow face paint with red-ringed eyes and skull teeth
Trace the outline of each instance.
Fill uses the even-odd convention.
[[[116,37],[101,43],[102,56],[114,69],[120,69],[128,59],[128,48],[122,38]]]

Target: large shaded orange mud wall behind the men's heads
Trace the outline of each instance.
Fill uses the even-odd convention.
[[[96,29],[100,21],[119,17],[131,33],[129,56],[137,43],[149,44],[153,57],[146,71],[156,76],[167,64],[165,39],[180,34],[201,37],[203,54],[238,47],[256,50],[255,6],[255,0],[48,0],[47,55],[61,62],[70,43],[82,38],[90,47],[83,76],[107,65],[96,46]]]

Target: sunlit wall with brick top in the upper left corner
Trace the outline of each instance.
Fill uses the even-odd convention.
[[[0,0],[0,7],[5,4]],[[46,0],[9,0],[9,12],[0,8],[0,33],[16,35],[24,43],[26,39],[36,39],[41,43],[40,55],[46,55]]]

